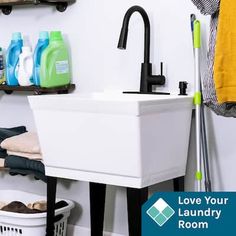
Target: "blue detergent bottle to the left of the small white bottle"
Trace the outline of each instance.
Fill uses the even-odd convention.
[[[6,52],[6,82],[9,86],[19,85],[15,72],[19,62],[19,55],[22,52],[22,46],[21,33],[13,33],[11,43]]]

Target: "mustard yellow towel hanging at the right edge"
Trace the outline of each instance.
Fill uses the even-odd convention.
[[[221,0],[214,82],[218,103],[236,102],[236,0]]]

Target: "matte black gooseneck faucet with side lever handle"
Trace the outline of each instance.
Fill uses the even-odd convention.
[[[144,62],[141,67],[140,92],[152,92],[152,85],[164,85],[165,76],[163,76],[163,64],[161,63],[161,75],[152,75],[152,64],[150,63],[150,22],[146,11],[140,6],[131,7],[125,14],[120,39],[118,43],[119,49],[126,49],[128,25],[131,15],[134,12],[139,12],[144,21]]]

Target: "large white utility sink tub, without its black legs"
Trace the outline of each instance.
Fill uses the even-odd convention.
[[[185,175],[192,96],[30,96],[46,174],[135,188]]]

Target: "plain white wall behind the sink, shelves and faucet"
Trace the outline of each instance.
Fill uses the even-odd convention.
[[[40,30],[62,30],[70,45],[76,92],[135,90],[139,87],[140,63],[143,60],[143,22],[138,14],[130,22],[127,50],[120,51],[116,48],[124,13],[135,4],[143,6],[150,16],[153,71],[159,73],[160,61],[165,63],[167,84],[160,90],[178,92],[178,82],[185,80],[189,82],[189,92],[193,92],[189,16],[195,12],[202,19],[204,38],[207,36],[209,18],[200,16],[190,0],[78,0],[65,13],[59,13],[53,7],[17,8],[10,16],[0,15],[0,45],[6,48],[14,31],[23,32],[35,45]],[[203,40],[203,46],[206,48],[206,40]],[[24,95],[7,96],[1,93],[0,110],[0,127],[24,124],[29,129],[35,129]],[[214,189],[235,190],[234,121],[209,113],[208,124]],[[191,140],[193,143],[193,139]],[[194,187],[193,146],[190,149],[190,169],[187,176],[189,190]],[[28,177],[1,174],[0,178],[1,189],[45,192],[44,184]],[[168,182],[152,190],[171,190],[170,184]],[[107,195],[105,229],[127,235],[125,189],[109,187]],[[88,184],[61,180],[58,196],[77,202],[70,223],[89,227]]]

